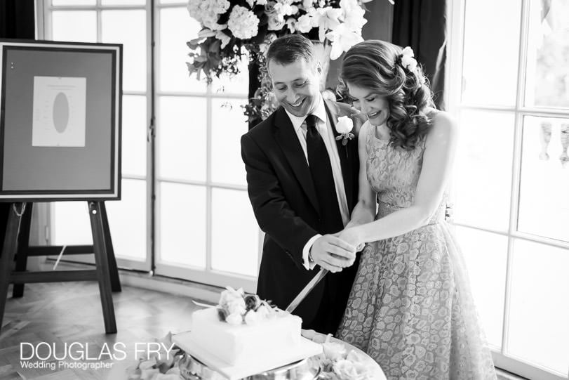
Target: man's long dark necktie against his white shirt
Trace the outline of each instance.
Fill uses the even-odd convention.
[[[307,116],[306,126],[308,165],[320,207],[319,232],[321,234],[335,233],[344,228],[344,223],[342,223],[342,214],[340,214],[338,207],[330,157],[324,140],[316,129],[316,116],[314,114]]]

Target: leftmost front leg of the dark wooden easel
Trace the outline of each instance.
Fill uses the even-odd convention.
[[[18,244],[18,230],[22,221],[22,214],[25,210],[25,203],[11,204],[8,214],[8,225],[6,225],[6,235],[4,236],[4,247],[0,256],[0,330],[2,320],[4,320],[4,310],[6,299],[8,298],[8,284],[10,284],[10,273],[12,263]]]

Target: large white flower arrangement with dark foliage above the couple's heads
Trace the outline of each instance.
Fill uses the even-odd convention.
[[[329,47],[331,60],[360,41],[367,20],[364,6],[371,0],[189,0],[189,15],[202,29],[187,43],[190,76],[206,80],[239,73],[242,59],[259,65],[260,88],[249,100],[245,114],[265,119],[274,110],[269,95],[265,53],[285,34],[302,34]],[[392,0],[390,0],[392,1]]]

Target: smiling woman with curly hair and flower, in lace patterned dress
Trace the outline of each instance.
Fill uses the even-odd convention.
[[[388,379],[495,379],[445,221],[455,121],[434,109],[410,48],[361,42],[345,55],[341,79],[368,122],[359,132],[359,203],[340,234],[366,247],[338,337]]]

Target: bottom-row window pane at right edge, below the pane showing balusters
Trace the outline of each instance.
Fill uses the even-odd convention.
[[[567,376],[569,254],[514,240],[508,353]]]

